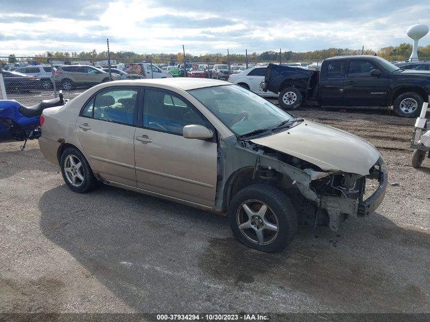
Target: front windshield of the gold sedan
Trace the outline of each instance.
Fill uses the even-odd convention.
[[[296,120],[293,115],[242,86],[205,87],[188,93],[205,105],[236,136],[276,128]]]

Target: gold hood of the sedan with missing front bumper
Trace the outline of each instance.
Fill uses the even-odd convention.
[[[297,157],[325,171],[343,171],[361,175],[381,154],[362,138],[330,126],[304,121],[299,125],[251,142]]]

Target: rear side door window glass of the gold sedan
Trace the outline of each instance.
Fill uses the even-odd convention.
[[[106,90],[87,103],[82,116],[133,125],[137,90]]]

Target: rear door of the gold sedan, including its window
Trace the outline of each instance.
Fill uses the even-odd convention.
[[[83,107],[76,133],[93,171],[103,179],[136,187],[134,132],[139,90],[109,87]]]

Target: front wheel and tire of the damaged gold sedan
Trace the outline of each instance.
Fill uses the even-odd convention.
[[[298,230],[290,199],[269,185],[251,185],[239,191],[228,207],[228,221],[240,242],[269,253],[283,250]]]

